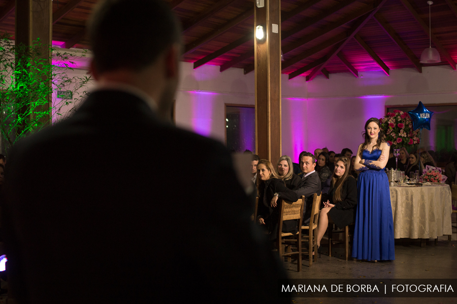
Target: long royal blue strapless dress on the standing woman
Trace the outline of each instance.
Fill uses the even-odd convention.
[[[358,175],[352,257],[366,260],[394,260],[394,217],[390,205],[389,181],[384,169],[370,164],[381,156],[365,149],[366,170]]]

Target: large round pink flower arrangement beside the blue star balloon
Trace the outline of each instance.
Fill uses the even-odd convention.
[[[413,130],[412,120],[407,112],[394,110],[387,112],[384,118],[379,119],[381,129],[385,134],[385,141],[395,148],[409,147],[419,143],[419,130]]]

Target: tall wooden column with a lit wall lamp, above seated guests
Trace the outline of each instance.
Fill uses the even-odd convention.
[[[276,164],[281,157],[281,2],[254,6],[256,153]],[[262,40],[255,37],[257,25],[264,27]]]

